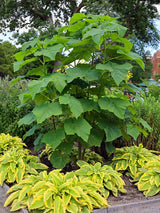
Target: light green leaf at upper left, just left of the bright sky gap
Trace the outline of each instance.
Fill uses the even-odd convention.
[[[48,58],[50,58],[51,60],[55,60],[55,57],[56,57],[56,54],[58,52],[61,52],[63,48],[63,45],[62,44],[56,44],[54,46],[48,46],[47,48],[45,49],[42,49],[40,51],[37,51],[35,52],[35,56],[41,56],[41,55],[44,55]]]

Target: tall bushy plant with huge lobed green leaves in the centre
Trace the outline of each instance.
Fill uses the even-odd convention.
[[[29,82],[28,91],[21,96],[22,104],[34,100],[36,106],[19,124],[36,120],[41,126],[53,125],[42,135],[41,144],[54,149],[50,158],[54,167],[64,167],[75,141],[82,159],[85,148],[100,146],[102,140],[110,143],[127,133],[135,137],[130,131],[133,125],[129,125],[133,119],[131,103],[122,90],[132,68],[129,61],[136,61],[141,68],[144,64],[131,52],[132,44],[123,38],[125,32],[115,18],[76,13],[54,38],[24,43],[15,55],[15,71],[33,61],[41,62],[26,74],[37,79]],[[83,64],[82,59],[88,63]],[[54,67],[60,71],[50,73],[54,61],[60,62]],[[110,88],[116,92],[106,94]],[[64,147],[68,144],[66,154]]]

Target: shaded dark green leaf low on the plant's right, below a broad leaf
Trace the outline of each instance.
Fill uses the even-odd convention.
[[[101,120],[98,126],[105,131],[106,141],[113,141],[122,135],[119,124],[114,121]]]

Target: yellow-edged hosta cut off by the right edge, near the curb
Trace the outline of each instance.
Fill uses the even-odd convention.
[[[146,197],[160,192],[160,161],[144,164],[144,168],[135,175],[138,190],[143,191]]]

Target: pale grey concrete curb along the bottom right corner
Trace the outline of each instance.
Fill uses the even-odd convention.
[[[160,198],[110,206],[93,213],[160,213]]]

